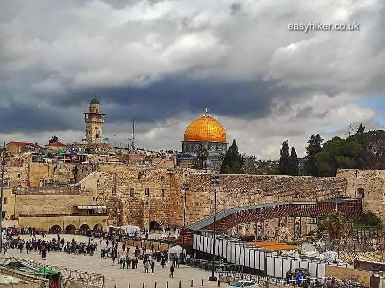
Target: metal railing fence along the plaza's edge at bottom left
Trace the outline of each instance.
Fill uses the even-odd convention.
[[[104,287],[104,284],[105,284],[104,275],[102,274],[84,272],[84,271],[69,269],[69,268],[60,267],[60,266],[47,265],[47,264],[42,264],[32,260],[18,259],[15,257],[0,257],[0,264],[6,265],[11,261],[24,261],[29,264],[42,266],[43,268],[47,267],[49,269],[58,271],[61,273],[61,277],[64,280],[71,279],[71,281],[73,282],[86,285],[86,286],[80,286],[80,287],[89,287],[89,288]],[[68,288],[68,286],[66,287]]]

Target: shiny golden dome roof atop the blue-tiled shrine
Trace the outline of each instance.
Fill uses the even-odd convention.
[[[227,137],[223,126],[216,119],[203,115],[187,126],[184,141],[226,143]]]

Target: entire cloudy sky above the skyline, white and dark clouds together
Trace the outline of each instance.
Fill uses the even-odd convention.
[[[290,31],[289,24],[359,24]],[[303,156],[325,139],[385,124],[382,0],[0,0],[0,139],[85,137],[96,94],[103,138],[181,150],[205,107],[241,152]]]

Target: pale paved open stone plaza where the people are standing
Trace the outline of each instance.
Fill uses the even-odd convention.
[[[40,237],[40,236],[38,236]],[[36,239],[38,239],[36,237]],[[55,235],[47,235],[46,240],[52,239]],[[61,235],[65,241],[71,241],[75,238],[76,241],[88,242],[88,237],[78,235]],[[29,239],[29,235],[23,235],[24,239]],[[100,239],[95,238],[95,242],[98,243],[98,252],[94,256],[86,255],[74,255],[65,252],[49,252],[47,253],[47,260],[42,260],[38,251],[31,252],[27,255],[27,251],[24,249],[23,253],[20,254],[18,249],[8,249],[7,256],[13,256],[23,259],[34,260],[40,263],[47,263],[49,265],[63,266],[70,269],[76,269],[81,271],[87,271],[92,273],[99,273],[105,276],[105,284],[107,288],[113,288],[117,285],[117,288],[127,288],[128,284],[131,284],[132,288],[142,288],[142,283],[145,283],[146,288],[152,288],[154,283],[157,282],[158,288],[166,288],[166,282],[169,281],[170,288],[177,288],[179,281],[182,281],[182,288],[191,286],[191,279],[194,280],[194,287],[200,287],[201,281],[204,279],[204,286],[215,287],[218,283],[208,281],[210,276],[209,271],[203,271],[190,266],[180,265],[180,269],[176,269],[174,273],[174,279],[169,278],[170,264],[166,263],[166,267],[162,269],[159,262],[156,262],[154,274],[144,273],[143,261],[139,260],[138,268],[136,270],[131,269],[120,269],[120,264],[112,266],[111,258],[101,259],[99,250],[105,247],[105,242],[101,246]],[[131,247],[130,252],[133,252]],[[119,253],[123,255],[121,243],[119,245]],[[133,253],[130,253],[130,257],[133,257]],[[116,262],[116,261],[115,261]],[[151,269],[149,270],[151,272]],[[227,286],[225,283],[221,283],[221,286]]]

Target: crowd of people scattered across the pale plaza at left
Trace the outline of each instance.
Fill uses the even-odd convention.
[[[172,231],[170,228],[167,230]],[[74,238],[71,241],[66,241],[64,237],[61,237],[59,231],[55,232],[56,235],[50,240],[47,240],[44,239],[47,238],[45,231],[38,232],[31,227],[7,229],[2,239],[4,255],[7,255],[8,249],[18,249],[18,253],[20,254],[24,253],[24,251],[26,251],[27,254],[38,251],[42,259],[46,260],[47,253],[51,251],[90,256],[93,256],[94,253],[98,251],[98,243],[95,241],[94,234],[91,231],[87,233],[88,243],[78,242]],[[148,230],[143,231],[145,237],[148,237],[148,232]],[[25,237],[23,237],[23,235],[25,234],[29,234],[30,239],[24,239]],[[40,235],[41,237],[36,237],[36,235]],[[138,269],[139,258],[143,259],[144,273],[149,273],[149,271],[155,273],[156,262],[160,263],[162,269],[165,269],[166,263],[169,263],[169,277],[172,278],[174,278],[175,269],[179,268],[178,258],[168,262],[168,253],[155,251],[152,243],[148,250],[146,246],[139,248],[139,245],[136,245],[132,251],[130,245],[126,243],[122,243],[119,249],[119,240],[116,240],[113,234],[108,233],[104,238],[99,239],[99,246],[101,258],[110,258],[112,260],[112,266],[117,264],[119,267],[120,264],[120,269]],[[133,252],[133,256],[130,252]]]

